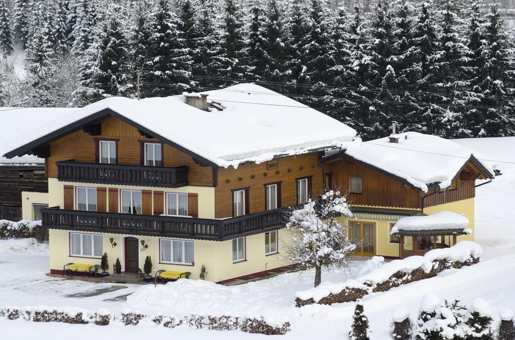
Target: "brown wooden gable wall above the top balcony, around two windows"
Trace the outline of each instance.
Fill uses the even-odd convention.
[[[161,143],[155,138],[145,138],[137,128],[110,117],[101,122],[101,135],[90,136],[79,130],[50,143],[50,157],[46,159],[48,177],[57,177],[58,161],[75,160],[76,162],[96,163],[97,140],[117,140],[118,164],[141,165],[141,142]],[[188,166],[190,185],[213,186],[213,168],[196,164],[191,156],[178,149],[163,145],[163,166]]]

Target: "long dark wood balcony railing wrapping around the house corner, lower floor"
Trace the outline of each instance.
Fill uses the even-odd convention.
[[[41,209],[48,229],[97,233],[227,240],[282,228],[288,208],[226,219],[101,213],[56,208]]]

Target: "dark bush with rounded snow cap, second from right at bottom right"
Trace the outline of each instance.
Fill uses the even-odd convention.
[[[482,298],[475,298],[472,301],[470,315],[466,322],[466,340],[493,340],[492,311],[490,306]]]

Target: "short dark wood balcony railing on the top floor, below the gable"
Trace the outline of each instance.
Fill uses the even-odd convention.
[[[56,162],[60,181],[179,187],[188,185],[188,167]]]

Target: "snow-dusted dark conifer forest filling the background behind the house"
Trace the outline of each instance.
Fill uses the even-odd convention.
[[[503,6],[503,4],[501,4]],[[480,0],[0,0],[0,106],[251,81],[354,127],[515,135],[515,49]],[[501,7],[502,8],[502,7]],[[140,74],[141,86],[138,83]]]

